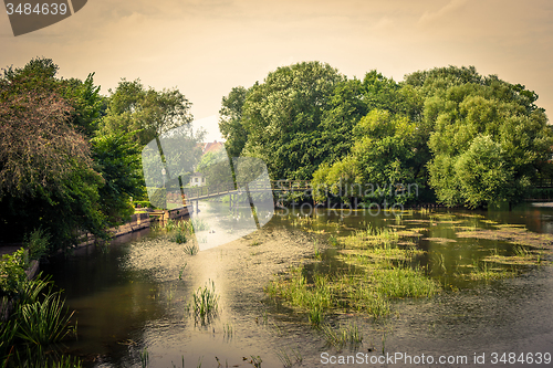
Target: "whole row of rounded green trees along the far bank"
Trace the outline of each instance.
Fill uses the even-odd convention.
[[[271,178],[312,179],[315,201],[520,201],[549,177],[553,135],[538,95],[471,67],[395,82],[347,80],[319,62],[279,67],[222,99],[229,154]]]

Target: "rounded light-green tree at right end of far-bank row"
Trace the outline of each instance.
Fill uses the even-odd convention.
[[[553,146],[538,95],[473,67],[418,73],[415,81],[427,96],[429,182],[438,200],[470,208],[520,201]]]

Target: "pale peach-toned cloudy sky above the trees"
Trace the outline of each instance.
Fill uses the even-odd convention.
[[[536,92],[552,115],[552,46],[551,0],[88,0],[70,18],[19,36],[0,13],[0,67],[44,56],[63,77],[95,73],[105,95],[123,77],[177,87],[208,129],[206,140],[221,139],[218,112],[232,87],[302,61],[348,77],[377,70],[396,81],[473,65]]]

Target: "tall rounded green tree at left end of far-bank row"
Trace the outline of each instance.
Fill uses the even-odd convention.
[[[242,106],[244,156],[261,158],[272,178],[310,179],[323,161],[320,127],[345,77],[319,62],[279,67],[249,91]]]

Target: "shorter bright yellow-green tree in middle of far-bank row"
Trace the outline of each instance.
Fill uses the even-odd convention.
[[[418,125],[408,117],[373,109],[354,127],[355,144],[345,158],[323,165],[313,175],[315,199],[327,194],[348,201],[356,197],[369,202],[413,200],[425,177],[417,148],[425,145],[416,134]],[[410,197],[404,189],[414,186]],[[400,196],[399,196],[400,194]]]

